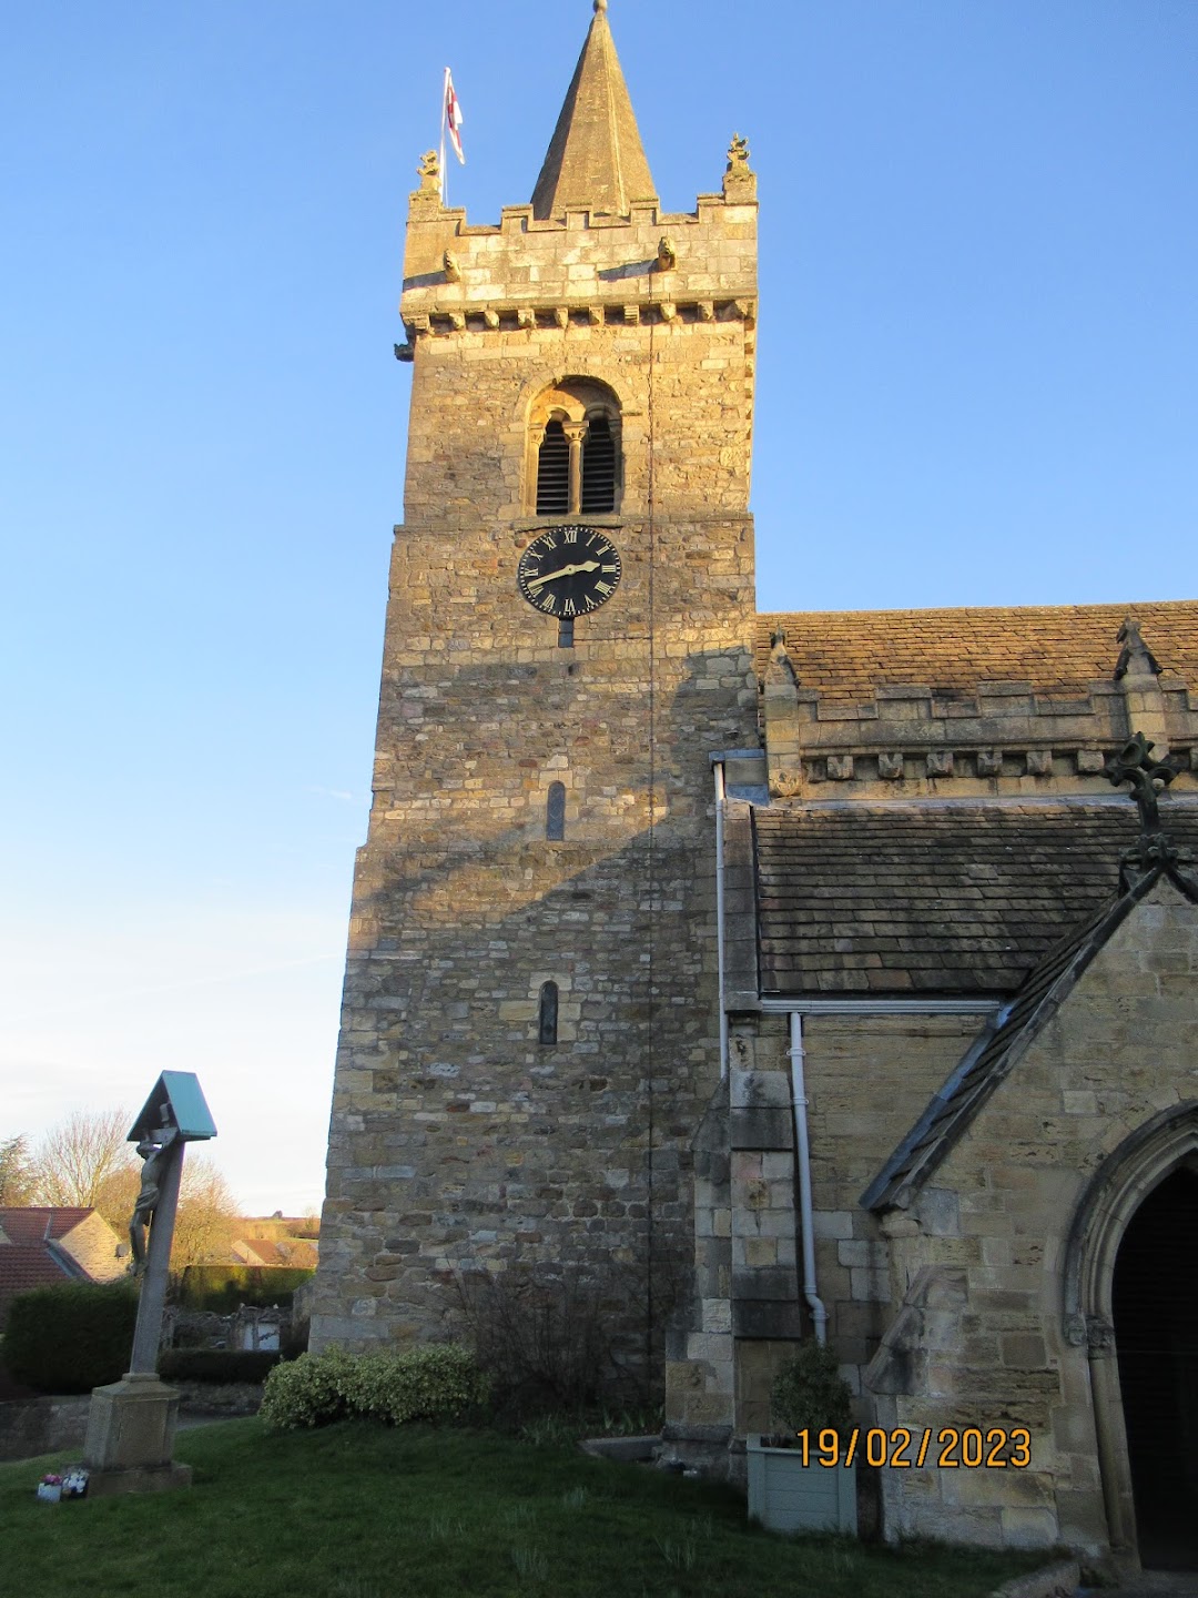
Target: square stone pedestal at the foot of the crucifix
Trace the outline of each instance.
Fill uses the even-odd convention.
[[[109,1387],[96,1387],[83,1443],[88,1494],[188,1486],[190,1465],[173,1459],[177,1419],[179,1393],[153,1374],[129,1371]]]

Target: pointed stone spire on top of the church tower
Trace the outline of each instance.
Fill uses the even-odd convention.
[[[657,190],[607,26],[607,0],[594,0],[591,32],[537,179],[532,214],[548,221],[572,206],[628,216],[633,200],[657,200]]]

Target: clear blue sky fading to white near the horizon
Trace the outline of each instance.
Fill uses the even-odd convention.
[[[246,1208],[319,1202],[406,197],[449,64],[450,201],[526,201],[589,13],[6,16],[0,1136],[192,1069]],[[752,147],[762,609],[1198,593],[1193,0],[610,21],[668,209]]]

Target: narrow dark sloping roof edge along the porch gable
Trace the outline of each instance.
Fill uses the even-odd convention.
[[[1062,940],[1030,972],[1011,1004],[978,1036],[923,1115],[861,1195],[864,1208],[887,1210],[909,1202],[910,1192],[947,1155],[1032,1039],[1056,1015],[1097,951],[1161,876],[1164,869],[1155,866],[1126,893],[1109,898],[1097,914]],[[1198,901],[1195,877],[1187,871],[1169,871],[1168,876],[1187,898]]]

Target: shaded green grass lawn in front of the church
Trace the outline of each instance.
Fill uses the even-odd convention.
[[[728,1489],[494,1432],[182,1432],[177,1493],[38,1504],[0,1465],[21,1598],[982,1598],[1037,1563],[749,1528]],[[56,1454],[54,1461],[69,1456]],[[11,1584],[11,1585],[10,1585]]]

